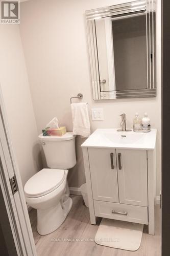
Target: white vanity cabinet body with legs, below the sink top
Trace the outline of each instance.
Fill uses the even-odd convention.
[[[155,150],[83,147],[90,221],[148,224],[154,234]]]

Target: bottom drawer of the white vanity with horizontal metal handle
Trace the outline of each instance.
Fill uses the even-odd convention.
[[[148,224],[148,207],[94,200],[95,216]]]

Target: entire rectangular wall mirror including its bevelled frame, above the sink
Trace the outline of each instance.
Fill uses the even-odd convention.
[[[93,98],[155,97],[153,3],[90,10],[86,18]]]

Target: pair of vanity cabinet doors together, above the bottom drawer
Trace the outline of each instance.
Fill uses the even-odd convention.
[[[89,148],[94,200],[148,206],[147,151]]]

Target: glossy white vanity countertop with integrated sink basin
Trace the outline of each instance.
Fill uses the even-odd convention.
[[[81,147],[140,148],[154,150],[156,129],[149,133],[117,132],[117,129],[97,129]]]

